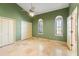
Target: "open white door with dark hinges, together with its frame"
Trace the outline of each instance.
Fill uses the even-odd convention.
[[[67,45],[77,55],[77,7],[67,19]]]

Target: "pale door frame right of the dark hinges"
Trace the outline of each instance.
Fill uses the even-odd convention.
[[[72,37],[72,51],[74,51],[74,53],[77,55],[77,7],[73,10],[72,12],[72,16],[71,16],[71,19],[72,19],[72,34],[71,34],[71,37]]]

